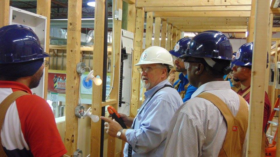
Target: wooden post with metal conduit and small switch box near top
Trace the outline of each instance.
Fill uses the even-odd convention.
[[[114,0],[117,3],[117,10],[122,9],[122,0]],[[115,5],[114,3],[114,5]],[[113,7],[113,13],[115,12],[115,7]],[[119,89],[120,89],[120,47],[121,47],[121,28],[122,22],[114,19],[114,27],[115,27],[115,43],[113,43],[113,47],[115,47],[115,78],[114,78],[114,87],[110,94],[110,99],[117,100],[116,104],[112,104],[114,108],[118,108],[119,102]],[[112,52],[113,55],[113,52]],[[113,72],[113,63],[111,64],[111,69]],[[111,72],[111,74],[112,74]],[[113,78],[111,77],[111,85],[113,83]],[[107,156],[115,156],[116,155],[116,139],[114,137],[108,136],[108,149]],[[118,139],[119,140],[119,139]]]

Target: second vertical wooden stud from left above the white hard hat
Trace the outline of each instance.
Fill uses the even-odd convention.
[[[146,42],[145,49],[152,46],[152,36],[153,36],[153,12],[148,12],[146,17]]]

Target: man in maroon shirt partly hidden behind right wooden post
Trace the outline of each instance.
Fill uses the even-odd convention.
[[[251,87],[251,67],[253,56],[253,42],[242,45],[237,53],[236,58],[231,62],[234,64],[232,67],[232,77],[234,81],[240,81],[241,89],[237,91],[237,94],[241,95],[249,104],[250,101],[250,87]],[[268,59],[267,59],[268,63]],[[268,122],[268,118],[271,113],[271,104],[268,99],[268,95],[265,92],[265,103],[263,110],[263,122],[262,131],[266,132],[265,126]]]

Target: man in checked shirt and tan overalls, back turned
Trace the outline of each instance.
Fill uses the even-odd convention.
[[[181,58],[198,89],[171,119],[164,156],[244,156],[248,103],[223,81],[230,72],[230,41],[218,31],[202,32]]]

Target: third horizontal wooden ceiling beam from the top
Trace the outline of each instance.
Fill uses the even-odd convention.
[[[154,17],[249,17],[251,11],[157,11]]]

